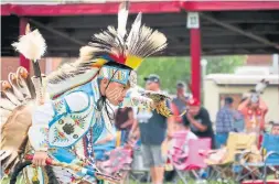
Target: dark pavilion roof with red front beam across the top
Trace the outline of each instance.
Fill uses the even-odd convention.
[[[218,3],[218,4],[217,4]],[[235,7],[232,7],[235,6]],[[60,6],[4,4],[2,10],[2,56],[18,55],[11,43],[19,36],[19,17],[40,29],[47,43],[47,56],[77,56],[94,33],[117,24],[118,3]],[[129,24],[136,13],[142,22],[165,33],[165,56],[190,54],[186,12],[200,11],[203,55],[271,54],[279,51],[279,2],[132,2]]]

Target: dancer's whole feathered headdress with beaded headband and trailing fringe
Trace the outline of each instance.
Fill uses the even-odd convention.
[[[122,72],[117,67],[106,67],[106,69],[103,67],[100,75],[104,74],[103,77],[112,77],[116,82],[126,83],[132,74],[131,69],[137,69],[146,57],[167,47],[164,34],[141,25],[141,13],[137,15],[127,34],[128,7],[128,2],[120,4],[117,29],[108,26],[106,31],[94,34],[93,41],[81,48],[79,58],[75,63],[65,64],[49,76],[50,86],[60,84],[61,88],[61,83],[66,86],[67,80],[71,80],[73,84],[73,79],[75,80],[78,76],[84,76],[81,78],[86,78],[84,83],[87,83],[99,73],[100,67],[110,62],[125,65],[130,69]],[[116,71],[117,75],[115,75]]]

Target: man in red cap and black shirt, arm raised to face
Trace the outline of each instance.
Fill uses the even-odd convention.
[[[189,99],[187,106],[189,111],[183,116],[183,123],[190,126],[192,132],[198,138],[211,138],[214,149],[214,132],[208,111],[201,107],[201,102],[196,98]]]

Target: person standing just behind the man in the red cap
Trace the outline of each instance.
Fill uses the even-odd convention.
[[[176,85],[176,97],[173,98],[172,104],[178,108],[179,115],[186,110],[186,102],[190,95],[186,94],[186,87],[183,82],[179,82]],[[182,119],[180,119],[182,122]]]

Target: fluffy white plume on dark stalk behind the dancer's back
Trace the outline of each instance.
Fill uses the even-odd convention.
[[[46,51],[45,40],[39,30],[34,30],[21,36],[19,42],[14,42],[12,46],[15,51],[23,54],[24,57],[34,62],[40,59]]]

